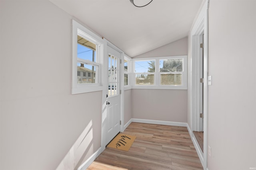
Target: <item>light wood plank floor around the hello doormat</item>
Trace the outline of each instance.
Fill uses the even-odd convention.
[[[88,170],[202,170],[186,127],[131,123],[129,151],[106,148]]]

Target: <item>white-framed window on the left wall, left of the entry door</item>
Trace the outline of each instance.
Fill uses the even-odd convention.
[[[102,90],[103,40],[74,20],[72,36],[72,94]]]

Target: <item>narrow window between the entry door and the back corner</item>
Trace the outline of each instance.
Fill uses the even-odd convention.
[[[131,58],[124,56],[124,88],[125,90],[131,87]]]

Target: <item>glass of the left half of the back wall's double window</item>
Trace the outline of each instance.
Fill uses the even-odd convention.
[[[156,61],[135,61],[135,85],[154,85]]]

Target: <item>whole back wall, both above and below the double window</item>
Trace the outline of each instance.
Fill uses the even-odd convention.
[[[188,55],[187,37],[134,58]],[[187,122],[187,90],[132,89],[132,118]]]

